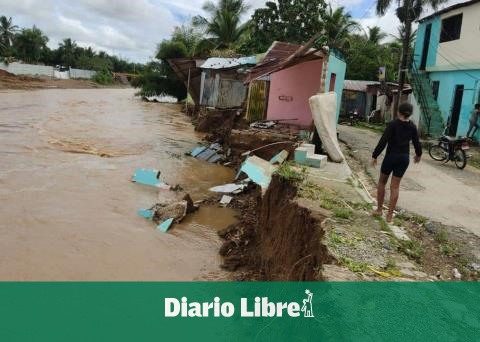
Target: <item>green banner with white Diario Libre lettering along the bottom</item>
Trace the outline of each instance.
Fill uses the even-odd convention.
[[[480,284],[0,284],[0,341],[432,339],[480,339]]]

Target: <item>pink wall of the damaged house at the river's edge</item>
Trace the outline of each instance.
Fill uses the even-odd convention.
[[[320,90],[322,66],[322,60],[315,60],[272,74],[267,119],[298,118],[292,124],[310,126],[313,119],[308,100]]]

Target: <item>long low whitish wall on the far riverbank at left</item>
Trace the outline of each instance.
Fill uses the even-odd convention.
[[[69,78],[86,78],[90,79],[95,76],[93,70],[72,69],[69,71],[58,71],[52,66],[23,64],[13,62],[9,64],[0,63],[0,69],[5,70],[14,75],[31,75],[31,76],[47,76],[51,78],[69,79]]]

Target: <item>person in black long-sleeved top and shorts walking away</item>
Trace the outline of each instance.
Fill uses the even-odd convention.
[[[422,157],[422,146],[418,139],[418,130],[413,122],[409,120],[413,113],[413,107],[409,103],[402,103],[398,108],[398,118],[387,125],[382,138],[378,142],[372,154],[372,164],[377,165],[377,158],[387,147],[387,153],[382,163],[380,180],[377,190],[377,210],[374,215],[383,214],[383,203],[385,200],[385,187],[390,175],[393,173],[390,184],[390,207],[387,214],[387,222],[393,221],[393,212],[397,206],[400,182],[410,164],[410,141],[415,147],[415,163],[419,163]]]

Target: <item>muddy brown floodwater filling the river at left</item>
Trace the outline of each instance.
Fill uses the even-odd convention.
[[[204,207],[163,234],[136,214],[163,195],[130,179],[155,168],[197,201],[232,171],[186,157],[189,120],[134,92],[0,92],[0,280],[226,277],[216,232],[235,213]]]

